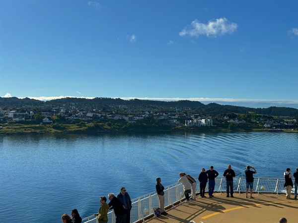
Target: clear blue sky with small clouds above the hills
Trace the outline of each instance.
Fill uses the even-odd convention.
[[[0,97],[66,96],[298,108],[298,1],[1,0]]]

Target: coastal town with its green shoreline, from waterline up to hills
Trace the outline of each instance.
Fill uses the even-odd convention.
[[[254,112],[198,112],[191,106],[106,105],[100,109],[78,103],[62,106],[1,106],[0,133],[56,131],[129,131],[129,130],[219,130],[255,131],[298,128],[297,116],[266,115]],[[214,106],[214,105],[213,105]],[[18,125],[16,125],[18,124]],[[40,126],[36,126],[40,125]],[[13,128],[15,126],[15,128]],[[17,127],[16,127],[17,126]],[[6,130],[5,130],[6,129]],[[14,129],[14,130],[13,130]],[[16,129],[20,129],[19,131]],[[30,132],[30,130],[25,131]],[[47,132],[47,131],[46,131]],[[51,131],[50,131],[51,132]]]

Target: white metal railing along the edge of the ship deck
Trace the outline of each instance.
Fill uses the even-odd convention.
[[[284,178],[274,178],[274,177],[259,177],[255,178],[253,191],[255,193],[285,193],[284,189]],[[246,191],[246,180],[245,177],[234,177],[233,184],[234,193],[243,193]],[[200,190],[200,183],[197,183],[196,192]],[[206,191],[208,191],[208,184],[206,186]],[[225,192],[226,183],[224,177],[218,177],[215,180],[215,192]],[[294,193],[294,188],[292,189]],[[184,200],[184,190],[181,183],[174,183],[165,187],[164,189],[164,206],[166,208],[174,207],[174,203],[179,202],[182,204]],[[157,193],[151,192],[149,194],[143,195],[141,197],[132,200],[131,209],[131,222],[135,223],[145,218],[154,215],[153,208],[159,207],[159,201]],[[115,223],[115,215],[113,211],[108,213],[108,222]],[[97,223],[96,217],[89,216],[82,220],[83,223]]]

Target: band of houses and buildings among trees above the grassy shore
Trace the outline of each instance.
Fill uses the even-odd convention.
[[[121,111],[121,112],[120,112]],[[204,116],[201,114],[190,114],[183,112],[182,110],[176,109],[173,112],[158,112],[158,111],[131,111],[127,106],[118,106],[118,108],[113,108],[109,111],[106,110],[91,110],[87,109],[77,109],[75,106],[70,106],[67,108],[52,108],[52,109],[43,109],[43,108],[21,108],[18,110],[9,110],[0,108],[0,122],[7,122],[8,120],[12,121],[25,121],[27,119],[32,119],[36,114],[39,114],[42,118],[41,124],[51,124],[53,121],[51,117],[61,115],[64,116],[67,120],[82,120],[85,122],[91,122],[93,120],[119,120],[124,119],[127,122],[135,123],[137,120],[142,120],[148,117],[153,119],[162,120],[164,123],[170,125],[185,125],[185,126],[217,126],[221,123],[246,123],[245,120],[239,120],[237,117],[229,118],[224,116],[223,118],[219,117],[210,117]],[[263,120],[262,118],[250,119],[250,123],[262,123],[266,128],[274,128],[275,126],[293,126],[295,119],[291,121],[285,121],[289,119],[289,116],[280,116],[278,119],[267,119]]]

